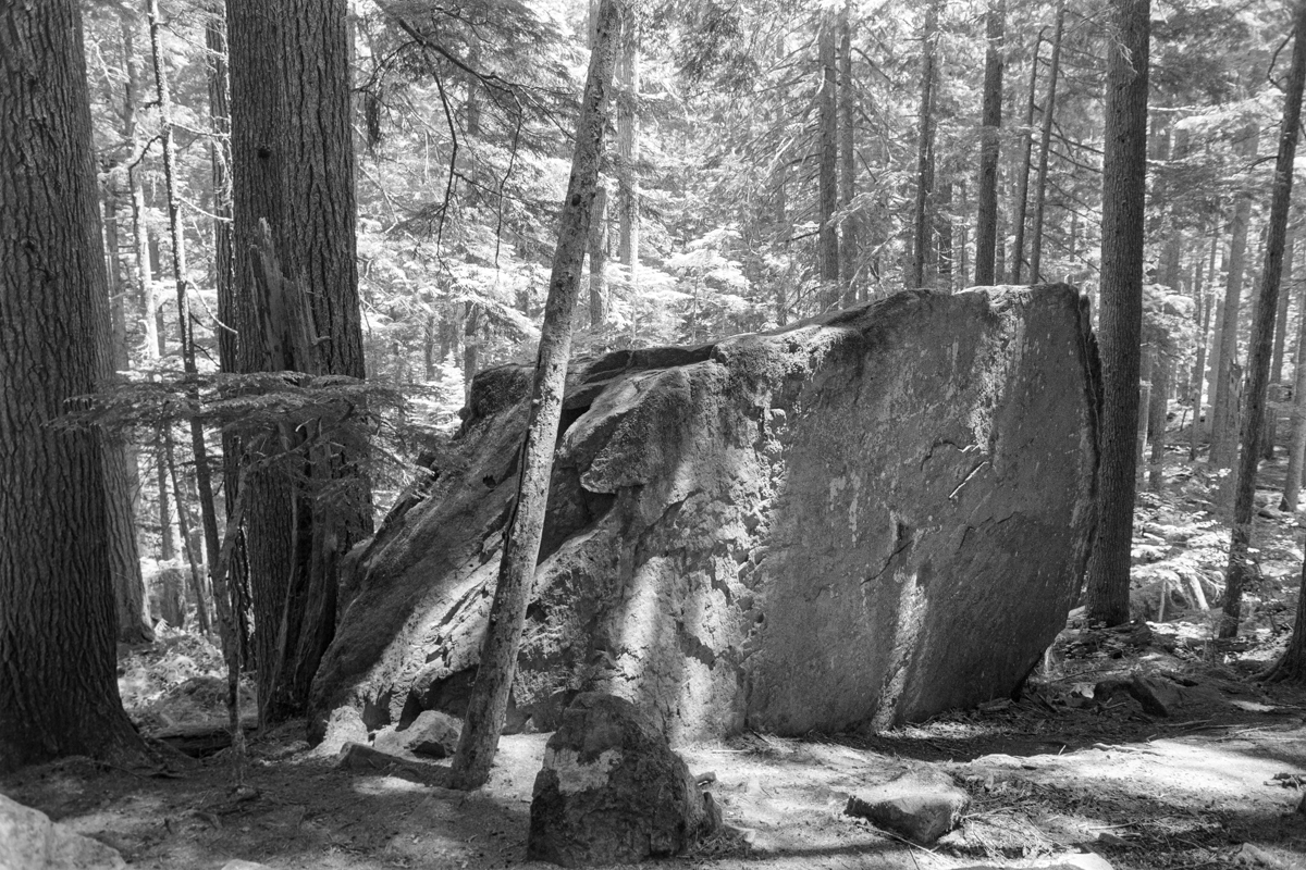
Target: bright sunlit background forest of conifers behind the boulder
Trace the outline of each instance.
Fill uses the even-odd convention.
[[[115,367],[137,383],[182,368],[174,248],[200,372],[217,368],[230,269],[222,9],[163,3],[153,35],[144,13],[95,3],[85,20]],[[1152,17],[1144,397],[1153,430],[1168,407],[1185,420],[1215,408],[1192,449],[1212,438],[1226,468],[1237,412],[1222,394],[1245,357],[1288,10],[1194,0]],[[534,351],[589,18],[585,3],[353,7],[363,355],[400,395],[385,428],[396,457],[421,429],[456,425],[478,370]],[[650,4],[619,48],[576,350],[703,342],[908,287],[948,292],[986,283],[989,257],[996,283],[1064,280],[1094,296],[1111,38],[1106,4]],[[996,222],[991,253],[976,250],[980,220]],[[1301,322],[1292,250],[1272,374],[1284,385]],[[188,436],[176,421],[136,434],[150,609],[205,627]],[[215,428],[208,438],[221,455]],[[385,470],[377,511],[406,480],[401,464]]]

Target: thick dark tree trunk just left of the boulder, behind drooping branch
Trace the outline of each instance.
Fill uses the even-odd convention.
[[[282,295],[310,307],[315,359],[296,356],[251,303],[242,310],[240,369],[363,377],[354,240],[349,33],[345,0],[229,0],[235,280],[242,300]],[[272,239],[260,235],[265,220]],[[260,260],[261,258],[261,260]],[[276,287],[256,274],[274,258]],[[273,453],[293,445],[269,447]],[[251,473],[246,543],[253,592],[260,717],[304,710],[308,683],[336,622],[336,553],[370,531],[366,485],[345,457],[304,472],[343,485],[330,517],[278,471]],[[329,547],[326,541],[333,541]]]

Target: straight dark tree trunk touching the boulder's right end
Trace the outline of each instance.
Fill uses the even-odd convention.
[[[1143,329],[1143,205],[1147,180],[1149,0],[1111,0],[1102,158],[1101,467],[1097,537],[1088,566],[1088,616],[1130,618],[1134,539],[1134,434],[1139,413]]]

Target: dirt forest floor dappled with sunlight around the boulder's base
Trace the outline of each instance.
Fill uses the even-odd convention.
[[[1140,496],[1135,603],[1122,630],[1075,618],[1019,699],[892,732],[743,734],[678,747],[729,830],[678,865],[927,870],[1029,866],[1093,850],[1118,869],[1306,870],[1306,689],[1255,674],[1282,648],[1301,571],[1297,518],[1267,507],[1256,531],[1263,579],[1243,637],[1212,639],[1195,586],[1218,593],[1228,530],[1211,487],[1181,466]],[[1162,605],[1164,601],[1164,605]],[[1164,609],[1162,609],[1164,608]],[[170,634],[123,657],[125,703],[146,732],[221,717],[212,646]],[[1168,715],[1122,686],[1161,680]],[[230,753],[158,770],[71,759],[0,780],[0,792],[119,849],[133,867],[543,867],[525,861],[530,792],[547,734],[508,736],[488,785],[449,790],[445,766],[337,768],[303,723]],[[918,764],[973,798],[961,828],[925,849],[844,814],[848,797]]]

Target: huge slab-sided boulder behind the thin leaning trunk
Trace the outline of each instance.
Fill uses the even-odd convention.
[[[478,376],[358,558],[315,740],[461,713],[530,372]],[[1093,526],[1097,355],[1066,286],[888,300],[568,378],[509,729],[606,690],[674,738],[891,725],[1012,693]]]

